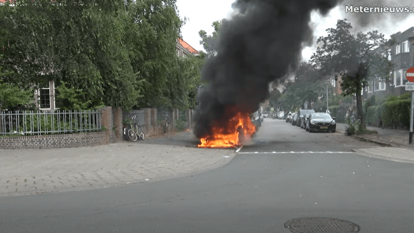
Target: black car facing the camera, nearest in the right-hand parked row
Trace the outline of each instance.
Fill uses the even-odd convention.
[[[306,128],[309,132],[314,131],[336,131],[336,117],[330,116],[327,113],[312,113],[308,117]]]

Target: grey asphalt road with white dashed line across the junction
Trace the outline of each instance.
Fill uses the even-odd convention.
[[[367,146],[265,119],[233,160],[204,173],[0,198],[0,232],[289,233],[283,225],[302,217],[350,221],[361,233],[412,232],[414,164],[350,153]]]

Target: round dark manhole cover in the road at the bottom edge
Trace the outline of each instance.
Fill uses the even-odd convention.
[[[285,223],[285,228],[294,233],[354,233],[359,226],[340,219],[300,218]]]

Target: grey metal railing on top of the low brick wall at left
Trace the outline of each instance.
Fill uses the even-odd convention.
[[[43,135],[101,131],[102,113],[98,111],[1,112],[0,135]]]

